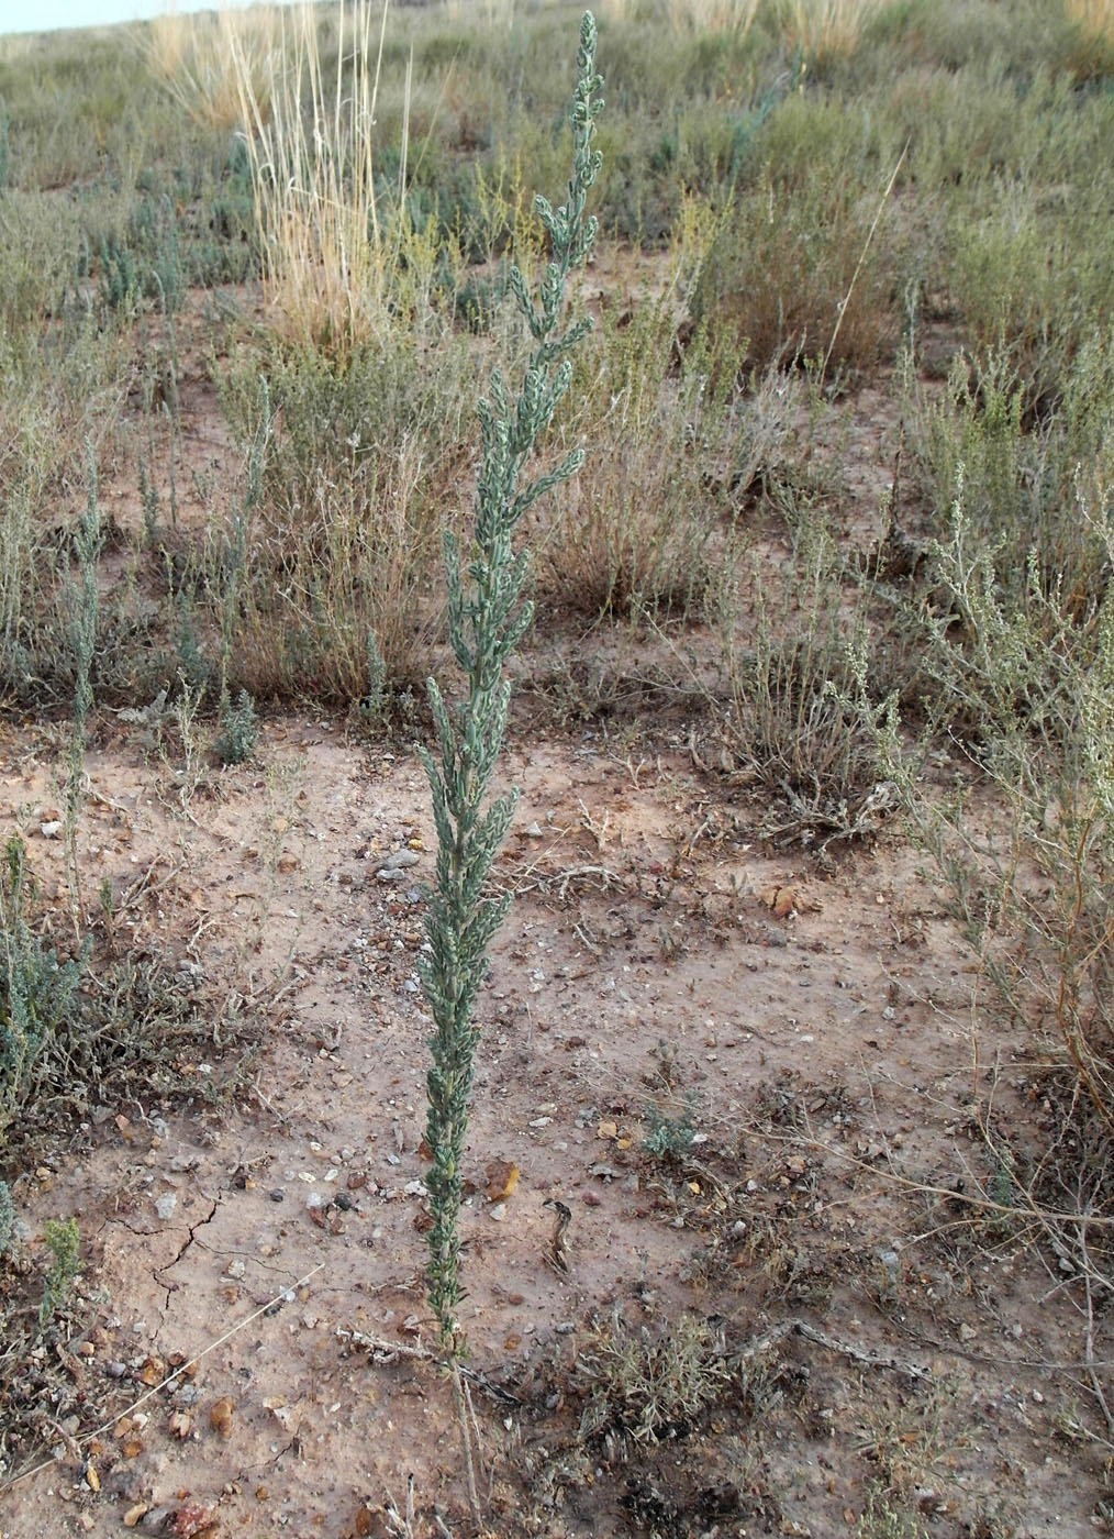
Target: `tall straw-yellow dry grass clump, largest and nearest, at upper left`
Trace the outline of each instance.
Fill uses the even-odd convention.
[[[289,340],[342,356],[391,315],[428,308],[437,260],[405,212],[408,108],[397,186],[383,208],[377,195],[386,14],[386,0],[377,15],[371,0],[352,0],[348,12],[339,0],[335,78],[326,78],[314,9],[285,12],[263,92],[252,57],[238,38],[231,43],[275,326]]]

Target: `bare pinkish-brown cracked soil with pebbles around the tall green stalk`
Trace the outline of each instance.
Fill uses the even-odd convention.
[[[8,743],[3,820],[62,902],[55,763],[49,731]],[[254,1011],[258,1048],[225,1105],[92,1108],[18,1183],[29,1244],[80,1219],[88,1416],[5,1491],[0,1531],[400,1533],[412,1479],[411,1531],[463,1533],[422,1356],[420,768],[305,719],[192,796],[135,728],[102,728],[86,768],[83,879],[111,883],[122,943]],[[1071,1299],[949,1200],[986,1176],[982,1065],[1008,1117],[1025,1040],[985,1025],[976,1060],[971,974],[900,831],[809,873],[682,751],[588,734],[505,770],[517,899],[462,1216],[489,1531],[820,1539],[876,1484],[946,1539],[1092,1533],[1102,1450],[1059,1436]],[[683,1157],[645,1148],[685,1117]],[[660,1442],[608,1379],[623,1339],[688,1339],[722,1377]]]

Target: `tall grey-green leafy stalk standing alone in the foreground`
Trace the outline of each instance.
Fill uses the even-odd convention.
[[[509,896],[485,897],[491,863],[514,816],[515,793],[488,799],[503,743],[509,683],[505,665],[531,623],[522,602],[526,551],[515,554],[512,532],[539,497],[572,476],[583,449],[574,449],[552,471],[526,477],[526,465],[569,388],[568,352],[591,329],[589,319],[565,323],[566,280],[588,255],[595,219],[585,215],[588,191],[600,171],[592,151],[595,119],[603,106],[595,74],[595,22],[585,12],[577,49],[572,125],[572,177],[568,202],[554,209],[534,200],[551,243],[551,262],[531,297],[519,268],[511,286],[534,339],[534,349],[511,400],[503,374],[491,374],[491,399],[479,403],[482,456],[474,503],[472,549],[466,568],[452,537],[445,536],[448,617],[452,651],[465,674],[466,694],[446,703],[429,680],[429,705],[437,726],[439,760],[422,749],[437,825],[437,883],[426,916],[429,951],[422,983],[432,1011],[432,1065],[428,1073],[426,1145],[432,1167],[426,1176],[429,1230],[429,1304],[437,1316],[442,1350],[451,1362],[463,1354],[457,1320],[462,1197],[462,1156],[468,1128],[468,1097],[479,1028],[472,1011],[486,970],[491,939],[506,917]]]

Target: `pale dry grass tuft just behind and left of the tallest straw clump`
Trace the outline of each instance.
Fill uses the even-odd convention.
[[[266,115],[268,82],[282,42],[282,17],[275,6],[222,6],[197,15],[168,11],[135,35],[154,77],[202,128],[240,126],[242,69]]]

